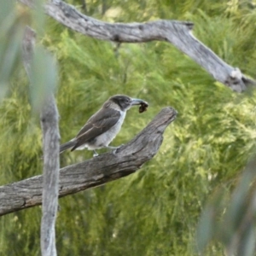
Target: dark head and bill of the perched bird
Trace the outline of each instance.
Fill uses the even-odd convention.
[[[108,102],[113,102],[116,104],[122,111],[126,111],[132,106],[140,105],[142,103],[147,103],[141,99],[131,98],[125,95],[115,95],[108,99]]]

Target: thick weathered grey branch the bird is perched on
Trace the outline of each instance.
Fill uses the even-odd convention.
[[[130,143],[116,154],[101,154],[60,171],[59,196],[71,195],[136,172],[152,159],[163,140],[166,127],[176,118],[173,108],[160,113]],[[31,177],[0,187],[0,216],[42,203],[43,177]]]

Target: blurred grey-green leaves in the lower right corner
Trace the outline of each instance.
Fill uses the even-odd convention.
[[[201,214],[197,230],[197,249],[203,255],[214,239],[227,255],[255,254],[256,161],[251,160],[232,195],[218,189]]]

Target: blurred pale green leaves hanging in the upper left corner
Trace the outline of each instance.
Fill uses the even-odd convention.
[[[0,101],[10,90],[10,81],[17,72],[21,62],[21,44],[26,22],[30,20],[29,13],[17,8],[14,0],[0,0]],[[35,26],[38,38],[44,36],[45,15],[43,1],[35,1],[32,11],[32,24]],[[26,61],[30,68],[30,96],[32,109],[36,112],[44,105],[45,97],[55,91],[57,83],[57,68],[54,58],[42,46],[37,46]],[[32,59],[32,60],[30,60]]]

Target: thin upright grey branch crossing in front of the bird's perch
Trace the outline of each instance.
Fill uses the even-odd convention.
[[[23,40],[23,63],[28,77],[31,77],[31,61],[36,33],[26,27]],[[55,218],[58,207],[59,187],[59,126],[58,111],[52,92],[44,101],[41,109],[41,126],[44,140],[44,181],[43,181],[43,217],[41,223],[41,252],[43,256],[55,256]]]

